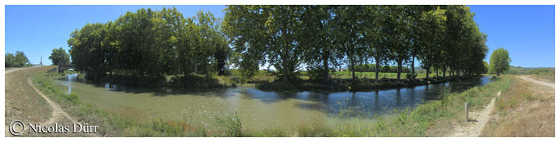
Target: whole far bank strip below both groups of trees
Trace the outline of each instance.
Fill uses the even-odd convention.
[[[239,81],[238,70],[230,70],[230,73],[218,76],[216,74],[207,77],[200,74],[169,75],[161,77],[134,76],[130,74],[106,74],[105,77],[91,80],[94,84],[105,83],[120,84],[125,86],[139,86],[148,88],[231,88],[242,86],[244,83],[255,84],[255,88],[267,91],[300,91],[312,90],[316,92],[339,92],[339,91],[365,91],[385,90],[391,88],[404,88],[412,86],[423,86],[428,84],[442,84],[449,81],[460,81],[474,77],[436,77],[429,74],[426,79],[425,73],[416,73],[416,79],[396,79],[394,72],[379,72],[379,82],[374,79],[375,72],[356,72],[356,84],[352,84],[350,72],[331,72],[329,82],[315,81],[309,79],[307,72],[301,72],[298,81],[284,83],[276,81],[269,72],[259,70],[254,77],[246,82]],[[401,74],[404,78],[406,73]],[[80,74],[82,76],[82,74]],[[88,78],[88,77],[86,77]]]

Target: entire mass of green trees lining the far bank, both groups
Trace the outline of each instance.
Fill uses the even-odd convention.
[[[395,65],[397,79],[414,61],[436,76],[484,73],[486,34],[468,6],[228,6],[223,21],[211,13],[183,17],[176,8],[139,9],[71,33],[77,68],[106,74],[190,76],[239,69],[239,81],[261,68],[282,82],[302,70],[328,83],[332,68],[353,72]],[[368,67],[369,68],[369,67]],[[428,78],[426,74],[426,78]]]

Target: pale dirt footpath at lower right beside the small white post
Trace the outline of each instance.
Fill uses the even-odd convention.
[[[502,92],[498,92],[498,96],[500,96]],[[470,112],[468,116],[471,120],[467,123],[467,125],[457,126],[454,129],[454,133],[449,136],[453,137],[477,137],[480,136],[482,129],[489,120],[489,115],[492,112],[492,108],[494,107],[494,102],[496,102],[496,97],[492,98],[490,104],[486,105],[482,111],[477,112]],[[474,117],[473,117],[474,116]],[[476,118],[476,119],[472,119]]]

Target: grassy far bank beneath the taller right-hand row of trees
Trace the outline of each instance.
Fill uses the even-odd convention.
[[[232,70],[237,72],[237,70]],[[435,77],[435,73],[429,74],[430,79],[426,79],[425,73],[416,73],[416,79],[406,79],[406,73],[401,74],[401,79],[397,80],[397,73],[379,72],[379,82],[375,80],[375,72],[356,72],[356,83],[352,82],[352,72],[330,72],[330,82],[316,81],[309,79],[307,72],[300,72],[298,81],[281,82],[270,75],[265,70],[259,70],[255,77],[248,80],[248,83],[255,83],[256,88],[260,90],[273,91],[297,91],[297,90],[314,90],[320,92],[338,92],[338,91],[366,91],[366,90],[383,90],[390,88],[402,88],[411,86],[421,86],[427,84],[441,84],[449,81],[458,81],[461,79],[472,79],[472,77]]]

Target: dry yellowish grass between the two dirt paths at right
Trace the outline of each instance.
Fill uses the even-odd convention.
[[[482,136],[554,136],[554,88],[514,82],[496,100]]]

